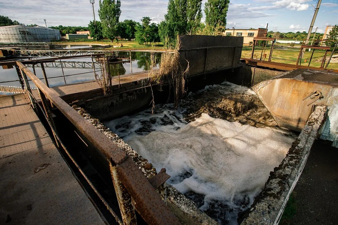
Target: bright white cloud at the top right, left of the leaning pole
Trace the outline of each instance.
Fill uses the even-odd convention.
[[[272,2],[271,5],[262,5],[258,7],[249,8],[251,10],[269,10],[269,9],[280,9],[287,8],[290,10],[302,11],[309,8],[309,4],[305,4],[308,0],[281,0]]]

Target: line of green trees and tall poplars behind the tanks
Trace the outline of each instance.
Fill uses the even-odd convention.
[[[134,39],[139,44],[151,45],[162,41],[165,44],[176,41],[179,34],[194,34],[203,29],[223,29],[230,0],[208,0],[204,7],[205,23],[202,19],[202,0],[169,0],[168,12],[160,24],[143,17],[140,22],[124,20],[121,15],[120,0],[100,0],[100,21],[90,21],[88,29],[97,40],[107,38],[113,41],[117,36]]]

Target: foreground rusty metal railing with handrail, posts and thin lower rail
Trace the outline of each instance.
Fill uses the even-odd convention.
[[[163,171],[158,175],[155,175],[155,177],[153,177],[149,182],[126,152],[121,150],[103,133],[78,114],[77,111],[62,100],[56,92],[49,89],[49,87],[47,87],[27,67],[18,61],[16,62],[16,68],[20,72],[23,81],[23,89],[31,101],[32,108],[36,109],[37,107],[40,107],[47,119],[47,122],[53,132],[54,142],[59,148],[64,149],[73,161],[74,165],[79,169],[82,176],[87,180],[91,188],[111,214],[116,218],[119,224],[136,224],[135,210],[148,224],[180,224],[178,219],[161,199],[159,193],[155,190],[155,188],[159,188],[159,185],[158,182],[155,182],[154,180],[156,180],[156,176],[158,176],[157,180],[163,181]],[[42,106],[34,97],[27,77],[29,77],[37,86]],[[47,104],[47,98],[52,106],[58,108],[58,110],[63,113],[63,115],[83,134],[83,136],[85,136],[106,156],[110,166],[110,172],[122,215],[122,221],[117,217],[115,212],[96,190],[95,186],[83,173],[65,145],[62,143],[52,118],[51,109]],[[163,190],[160,191],[162,192]]]

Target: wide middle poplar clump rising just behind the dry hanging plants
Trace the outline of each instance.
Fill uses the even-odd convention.
[[[173,41],[179,34],[195,31],[202,18],[202,0],[169,0],[165,20],[159,25],[161,41]]]

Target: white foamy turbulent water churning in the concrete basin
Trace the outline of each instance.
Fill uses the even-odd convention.
[[[231,85],[207,86],[253,95]],[[202,113],[193,122],[185,108],[173,113],[172,104],[156,105],[156,114],[145,110],[133,116],[105,122],[168,180],[222,224],[238,224],[238,214],[248,209],[264,188],[269,172],[285,157],[292,135],[269,127],[212,118]]]

